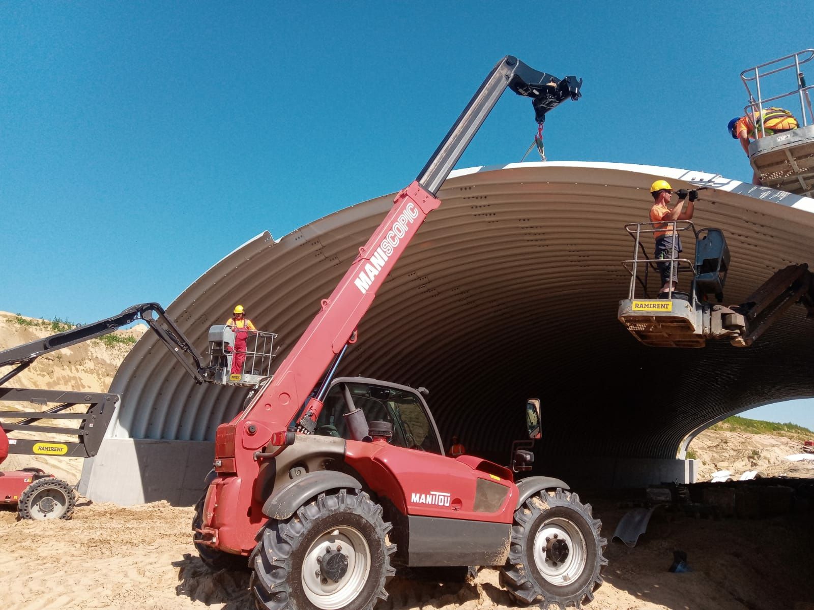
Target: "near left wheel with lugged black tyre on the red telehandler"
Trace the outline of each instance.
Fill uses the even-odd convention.
[[[387,599],[385,586],[396,573],[390,564],[396,545],[387,539],[391,528],[379,504],[351,490],[320,494],[287,521],[269,520],[251,558],[256,607],[370,610]],[[317,576],[317,569],[338,560],[344,571],[334,572],[335,579]]]

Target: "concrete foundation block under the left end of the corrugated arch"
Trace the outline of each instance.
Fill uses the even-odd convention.
[[[124,506],[167,500],[195,504],[204,493],[215,443],[106,438],[85,460],[79,492],[96,502]]]

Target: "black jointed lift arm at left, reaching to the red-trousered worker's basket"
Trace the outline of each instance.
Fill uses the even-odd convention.
[[[154,318],[153,314],[156,314],[158,317]],[[0,378],[0,386],[5,384],[12,377],[15,377],[18,373],[24,371],[25,368],[28,368],[28,366],[41,355],[113,333],[122,326],[129,325],[136,320],[144,320],[151,329],[155,330],[155,334],[164,342],[164,345],[168,347],[169,351],[173,352],[173,355],[184,368],[186,368],[187,373],[190,373],[190,375],[195,378],[197,383],[204,381],[204,361],[199,351],[195,349],[195,346],[189,342],[181,329],[175,325],[175,322],[167,317],[164,308],[158,303],[141,303],[139,305],[133,305],[133,307],[128,307],[118,316],[112,316],[104,320],[98,320],[98,322],[77,326],[77,328],[66,330],[64,333],[53,334],[44,339],[37,339],[36,341],[24,343],[24,345],[21,346],[0,351],[0,367],[17,366],[17,368]],[[159,322],[166,325],[167,328],[162,327]],[[184,353],[191,356],[195,366],[187,362],[182,355]]]

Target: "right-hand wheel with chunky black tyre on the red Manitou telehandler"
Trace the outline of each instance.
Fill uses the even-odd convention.
[[[602,584],[602,522],[590,504],[565,490],[532,495],[514,513],[509,559],[501,584],[519,603],[582,608]]]

